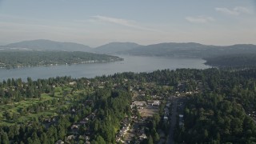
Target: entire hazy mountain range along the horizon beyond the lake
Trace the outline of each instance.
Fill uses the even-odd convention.
[[[148,46],[141,46],[133,42],[110,42],[103,46],[90,48],[90,46],[85,46],[73,42],[54,42],[50,40],[39,39],[33,41],[11,43],[6,46],[0,46],[0,48],[7,50],[65,50],[86,51],[99,54],[132,54],[146,56],[195,58],[210,58],[227,54],[256,54],[256,46],[251,44],[238,44],[233,46],[210,46],[194,42],[166,42]]]

